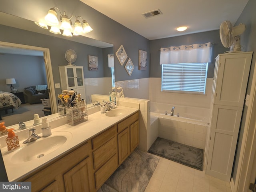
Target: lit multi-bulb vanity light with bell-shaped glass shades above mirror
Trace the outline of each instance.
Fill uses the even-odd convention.
[[[60,22],[58,20],[57,10],[60,13]],[[74,24],[72,18],[76,18]],[[80,22],[79,19],[82,21]],[[70,18],[66,15],[66,12],[62,14],[57,7],[50,8],[48,14],[44,17],[44,22],[35,22],[38,26],[48,29],[50,26],[50,32],[54,34],[61,34],[60,29],[63,30],[62,35],[72,37],[88,33],[92,31],[92,28],[86,20],[81,16],[72,15]]]

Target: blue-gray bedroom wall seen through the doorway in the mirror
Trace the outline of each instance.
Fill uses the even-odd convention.
[[[46,85],[44,58],[16,54],[0,54],[0,90],[10,92],[6,78],[15,78],[14,88],[23,91],[25,87]]]

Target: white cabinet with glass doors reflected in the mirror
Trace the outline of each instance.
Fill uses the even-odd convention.
[[[59,66],[61,90],[74,90],[86,99],[84,86],[84,68],[82,66]]]

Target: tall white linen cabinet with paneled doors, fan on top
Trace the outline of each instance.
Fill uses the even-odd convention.
[[[236,52],[219,54],[215,62],[206,174],[227,182],[232,173],[251,61],[252,52]]]

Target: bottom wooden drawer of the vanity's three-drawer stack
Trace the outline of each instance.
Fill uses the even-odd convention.
[[[95,184],[96,190],[98,190],[102,184],[112,175],[118,166],[117,154],[115,154],[104,166],[102,166],[97,172],[95,172]]]

